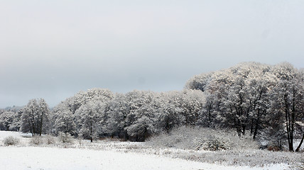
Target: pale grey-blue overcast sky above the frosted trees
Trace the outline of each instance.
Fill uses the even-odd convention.
[[[182,90],[239,62],[304,67],[304,1],[0,1],[0,108]]]

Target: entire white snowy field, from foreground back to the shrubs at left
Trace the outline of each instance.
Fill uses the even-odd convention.
[[[21,142],[4,147],[3,140],[8,136],[17,137]],[[145,147],[145,143],[99,141],[92,144],[76,140],[70,145],[33,146],[30,140],[28,135],[19,132],[0,131],[0,169],[296,169],[288,164],[224,166],[173,159],[160,153],[170,152],[174,157],[173,150],[160,151]]]

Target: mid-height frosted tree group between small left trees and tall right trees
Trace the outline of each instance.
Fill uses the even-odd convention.
[[[117,136],[143,141],[178,125],[195,125],[205,97],[202,91],[156,93],[107,89],[80,92],[53,108],[53,133],[86,137]]]

